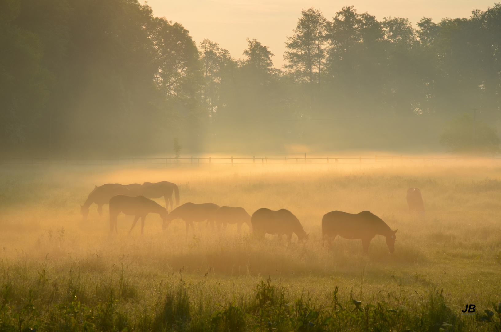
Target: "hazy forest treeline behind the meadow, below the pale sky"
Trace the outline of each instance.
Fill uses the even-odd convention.
[[[417,29],[308,9],[277,69],[255,39],[236,60],[135,0],[0,0],[0,146],[165,154],[179,137],[192,152],[429,150],[454,115],[477,108],[497,124],[500,22],[499,4]]]

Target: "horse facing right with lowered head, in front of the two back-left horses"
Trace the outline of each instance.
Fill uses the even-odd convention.
[[[118,234],[117,217],[120,212],[128,216],[134,216],[134,222],[128,234],[136,226],[139,218],[141,218],[141,234],[144,234],[144,220],[148,213],[158,213],[163,220],[167,218],[167,209],[144,196],[116,195],[110,199],[110,234],[113,233],[113,229]]]

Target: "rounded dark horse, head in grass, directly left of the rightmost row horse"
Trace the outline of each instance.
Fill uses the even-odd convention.
[[[298,218],[289,210],[281,209],[272,211],[270,209],[259,209],[250,217],[253,232],[256,236],[264,238],[265,234],[277,234],[279,238],[286,234],[291,241],[292,233],[296,233],[299,241],[308,239],[303,226]]]

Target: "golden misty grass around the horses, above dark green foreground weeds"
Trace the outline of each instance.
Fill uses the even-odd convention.
[[[95,205],[88,222],[81,221],[79,204],[94,185],[162,180],[179,185],[181,203],[241,206],[249,214],[262,207],[286,208],[299,218],[310,240],[258,241],[246,234],[246,226],[237,235],[236,226],[218,233],[205,223],[186,235],[180,220],[162,232],[156,215],[147,217],[144,236],[138,228],[127,236],[132,217],[122,215],[120,234],[110,237],[108,220],[99,218]],[[425,217],[407,212],[410,187],[421,189]],[[114,287],[119,293],[114,296],[121,299],[117,305],[139,316],[180,278],[193,301],[203,297],[214,308],[252,296],[255,285],[270,275],[289,296],[305,291],[319,303],[328,301],[337,285],[344,300],[405,298],[412,307],[436,287],[443,289],[455,313],[466,303],[483,311],[501,300],[499,202],[501,170],[478,164],[4,168],[0,285],[10,287],[9,296],[19,303],[25,303],[28,289],[39,291],[42,302],[51,296],[61,302],[78,290],[82,302],[104,303]],[[372,241],[368,256],[362,255],[359,240],[337,238],[332,249],[326,248],[321,219],[333,210],[368,210],[398,228],[395,253],[388,253],[380,236]]]

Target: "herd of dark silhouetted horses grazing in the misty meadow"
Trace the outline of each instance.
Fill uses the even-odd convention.
[[[176,201],[176,208],[173,207],[172,194]],[[165,208],[152,201],[152,198],[165,199]],[[129,233],[136,226],[141,218],[141,234],[144,232],[144,220],[149,213],[160,215],[163,220],[162,229],[169,227],[175,219],[182,219],[186,225],[186,233],[191,226],[194,231],[195,222],[207,222],[207,225],[217,227],[217,229],[226,228],[227,224],[236,224],[238,233],[241,226],[247,224],[251,233],[258,238],[264,238],[265,234],[278,235],[281,238],[287,235],[289,241],[293,233],[296,234],[299,241],[308,239],[301,222],[296,216],[286,209],[273,211],[262,208],[250,216],[245,209],[241,207],[218,206],[214,203],[184,203],[179,206],[179,189],[167,181],[158,183],[145,182],[140,184],[105,184],[96,186],[89,194],[87,201],[81,206],[81,213],[84,220],[87,220],[89,207],[93,203],[98,205],[99,215],[102,216],[102,207],[104,204],[110,206],[110,234],[113,231],[118,233],[117,217],[120,213],[128,216],[134,216],[134,221]],[[421,192],[417,188],[410,188],[407,191],[407,204],[410,212],[424,214],[424,204]],[[171,208],[171,212],[167,208]],[[346,239],[362,240],[363,251],[366,254],[371,240],[376,235],[382,235],[386,238],[386,244],[390,253],[395,251],[395,233],[381,218],[375,216],[369,211],[363,211],[358,214],[351,214],[341,211],[332,211],[326,213],[322,218],[322,235],[327,240],[329,246],[336,236]]]

